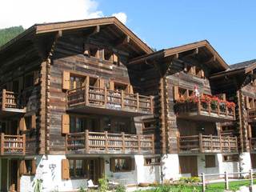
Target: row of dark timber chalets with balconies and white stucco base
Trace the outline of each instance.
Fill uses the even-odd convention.
[[[1,191],[255,167],[256,64],[233,69],[209,42],[153,52],[116,18],[57,22],[2,46],[0,63]]]

